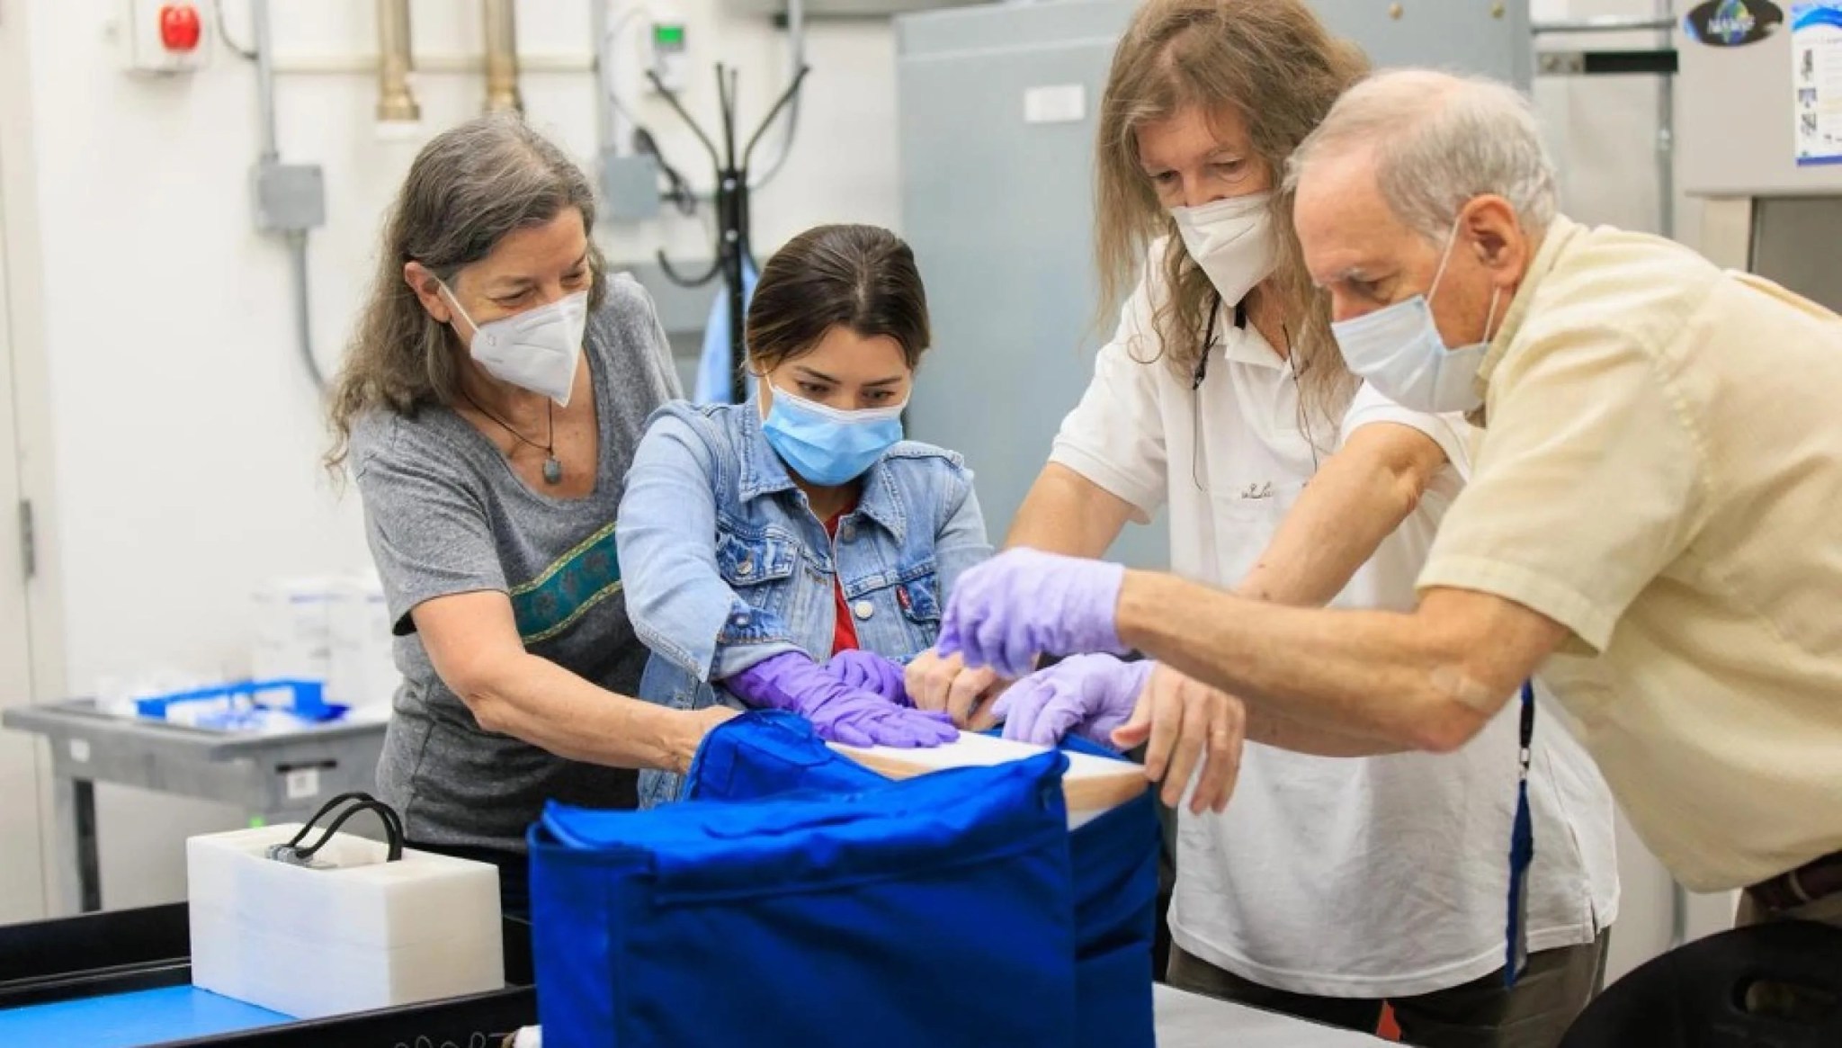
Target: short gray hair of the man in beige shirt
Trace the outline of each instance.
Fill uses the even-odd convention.
[[[1370,149],[1382,199],[1407,228],[1444,241],[1459,212],[1494,193],[1531,232],[1555,221],[1555,162],[1529,99],[1486,77],[1385,70],[1352,87],[1286,164],[1295,190],[1324,157]]]

